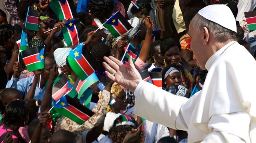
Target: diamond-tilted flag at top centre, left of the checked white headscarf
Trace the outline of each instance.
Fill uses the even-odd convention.
[[[133,28],[120,12],[116,12],[103,25],[114,37],[119,37]]]

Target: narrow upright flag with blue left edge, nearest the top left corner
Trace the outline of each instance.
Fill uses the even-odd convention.
[[[38,11],[31,9],[30,6],[28,6],[25,28],[28,30],[38,31]]]

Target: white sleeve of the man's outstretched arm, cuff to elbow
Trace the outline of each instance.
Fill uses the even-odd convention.
[[[187,127],[182,116],[178,115],[181,106],[188,100],[186,97],[173,95],[145,81],[139,83],[134,95],[135,115],[173,129],[176,129],[175,122],[183,124],[179,127]],[[177,116],[179,120],[176,120]]]

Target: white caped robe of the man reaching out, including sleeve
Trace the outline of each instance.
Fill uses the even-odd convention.
[[[187,131],[188,143],[256,143],[256,61],[234,42],[206,62],[204,87],[190,99],[141,81],[135,115]]]

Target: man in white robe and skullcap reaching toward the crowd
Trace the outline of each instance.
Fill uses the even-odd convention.
[[[106,74],[134,91],[134,113],[188,132],[189,143],[256,143],[256,61],[236,42],[236,23],[226,5],[201,9],[189,27],[197,65],[209,72],[204,87],[190,99],[142,81],[130,67],[104,57]]]

